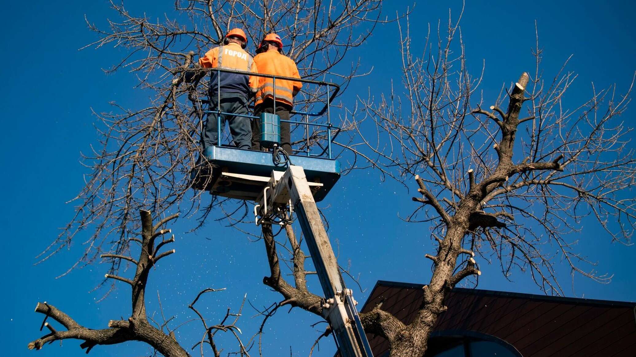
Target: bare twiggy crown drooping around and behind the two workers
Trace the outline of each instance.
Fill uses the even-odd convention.
[[[88,248],[73,267],[90,264],[104,252],[127,253],[127,232],[135,224],[135,212],[142,208],[188,217],[198,214],[202,224],[212,208],[223,203],[216,199],[202,203],[207,201],[200,199],[202,191],[190,189],[189,172],[197,162],[198,135],[205,116],[202,102],[207,79],[199,86],[175,84],[183,81],[183,72],[193,68],[196,57],[221,43],[227,30],[242,27],[254,42],[275,30],[286,42],[287,55],[298,62],[301,76],[336,76],[332,69],[383,22],[380,4],[380,0],[179,0],[171,14],[174,18],[167,15],[158,22],[135,17],[123,4],[111,1],[120,20],[109,20],[106,30],[87,20],[100,38],[86,48],[108,44],[125,48],[125,57],[107,72],[133,72],[139,78],[137,86],[153,97],[141,109],[113,104],[113,112],[94,113],[101,122],[100,142],[83,156],[91,172],[72,200],[76,214],[41,253],[41,260],[69,246],[79,231],[88,228],[94,229]],[[338,74],[343,87],[359,75],[357,65]],[[315,98],[319,93],[304,94]],[[232,206],[229,212],[235,210],[242,211]],[[118,269],[120,261],[113,260],[110,273]]]

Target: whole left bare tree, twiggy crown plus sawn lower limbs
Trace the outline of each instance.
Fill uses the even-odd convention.
[[[57,332],[47,325],[51,333],[35,340],[29,347],[39,349],[46,342],[61,339],[85,340],[82,347],[87,349],[97,344],[142,340],[165,356],[184,356],[185,349],[170,337],[170,331],[163,332],[165,326],[162,325],[152,327],[146,318],[143,295],[148,269],[172,251],[153,258],[151,252],[156,252],[166,242],[162,241],[153,250],[155,234],[161,231],[155,233],[157,227],[149,231],[147,224],[151,222],[146,222],[149,213],[144,210],[196,217],[198,225],[195,224],[193,229],[204,224],[213,208],[226,213],[232,224],[242,220],[248,212],[245,203],[232,200],[213,198],[205,203],[208,200],[201,196],[205,192],[190,188],[189,173],[198,159],[198,135],[205,116],[202,104],[209,83],[204,78],[201,83],[181,86],[184,72],[196,68],[196,58],[220,44],[229,29],[241,27],[252,42],[257,43],[267,32],[276,31],[283,37],[284,50],[298,64],[302,77],[317,79],[329,75],[339,79],[341,87],[346,89],[354,77],[364,73],[359,71],[356,62],[349,66],[343,60],[352,48],[370,36],[377,24],[389,21],[380,19],[381,4],[381,0],[177,0],[174,13],[163,20],[151,20],[146,15],[133,15],[123,3],[111,1],[117,20],[109,20],[107,29],[100,29],[86,20],[99,39],[85,48],[99,49],[107,45],[125,48],[121,62],[107,72],[127,70],[134,73],[139,79],[137,87],[151,93],[151,100],[142,108],[127,109],[113,104],[113,112],[94,112],[100,121],[97,126],[100,142],[92,146],[93,152],[83,156],[91,172],[85,187],[72,200],[77,205],[76,213],[39,258],[52,257],[71,245],[79,232],[90,230],[84,254],[69,271],[91,264],[99,257],[106,259],[110,266],[104,283],[113,280],[111,289],[115,286],[114,280],[130,284],[133,310],[128,321],[111,321],[109,329],[90,330],[79,326],[55,307],[41,303],[36,311],[51,316],[67,330]],[[320,105],[321,94],[319,89],[303,89],[296,107]],[[326,136],[324,130],[315,131],[312,142],[321,136]],[[137,211],[142,212],[144,224],[141,241],[128,238],[138,229]],[[175,217],[170,215],[162,222]],[[305,270],[307,257],[300,248],[301,238],[296,238],[293,229],[286,227],[286,240],[277,242],[272,227],[267,225],[263,227],[262,238],[271,271],[263,281],[280,292],[284,299],[261,312],[264,318],[257,333],[259,340],[267,319],[280,306],[298,306],[318,315],[322,310],[321,297],[307,289],[306,276],[314,272]],[[131,242],[142,244],[137,260],[131,257],[134,249]],[[277,246],[286,249],[289,255],[279,259]],[[133,280],[120,276],[123,260],[137,265]],[[282,278],[280,261],[289,264],[293,284]],[[206,333],[200,342],[201,354],[204,354],[205,343],[211,346],[215,356],[219,356],[213,342],[214,333],[217,330],[233,332],[233,325],[225,324],[224,320],[219,325],[208,326],[198,311],[195,312]],[[329,330],[323,336],[328,333]],[[240,344],[238,353],[247,355],[248,350]]]

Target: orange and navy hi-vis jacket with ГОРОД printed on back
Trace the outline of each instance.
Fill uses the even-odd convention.
[[[237,43],[230,43],[207,51],[204,57],[199,58],[199,64],[204,68],[236,69],[258,73],[258,65],[249,53],[245,52]],[[218,74],[221,74],[220,78]],[[220,83],[217,83],[220,81]],[[221,97],[227,93],[244,94],[250,97],[250,93],[258,89],[258,77],[245,76],[244,74],[212,72],[210,79],[210,97],[216,97],[216,88],[221,89]]]

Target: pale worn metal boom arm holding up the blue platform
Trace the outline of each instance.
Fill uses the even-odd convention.
[[[322,184],[307,182],[301,166],[289,165],[286,172],[272,172],[272,177],[256,199],[256,224],[268,222],[284,226],[291,223],[296,210],[300,227],[314,261],[324,292],[322,313],[329,322],[342,357],[373,357],[357,314],[352,290],[345,287],[329,237],[315,204],[312,190]]]

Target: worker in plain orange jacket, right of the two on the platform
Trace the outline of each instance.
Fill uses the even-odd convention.
[[[254,63],[258,67],[259,73],[300,79],[298,67],[296,67],[294,61],[282,54],[282,40],[277,34],[267,34],[259,44],[256,53],[258,54],[254,56]],[[275,114],[280,116],[280,119],[289,120],[289,112],[293,108],[294,97],[298,94],[303,84],[300,81],[285,79],[276,79],[276,88],[274,88],[273,84],[272,78],[258,77],[254,115],[260,116],[264,112],[275,112]],[[275,103],[274,93],[276,97]],[[252,150],[261,149],[260,135],[260,123],[256,119],[252,121]],[[280,123],[280,147],[287,154],[292,154],[289,123]]]

